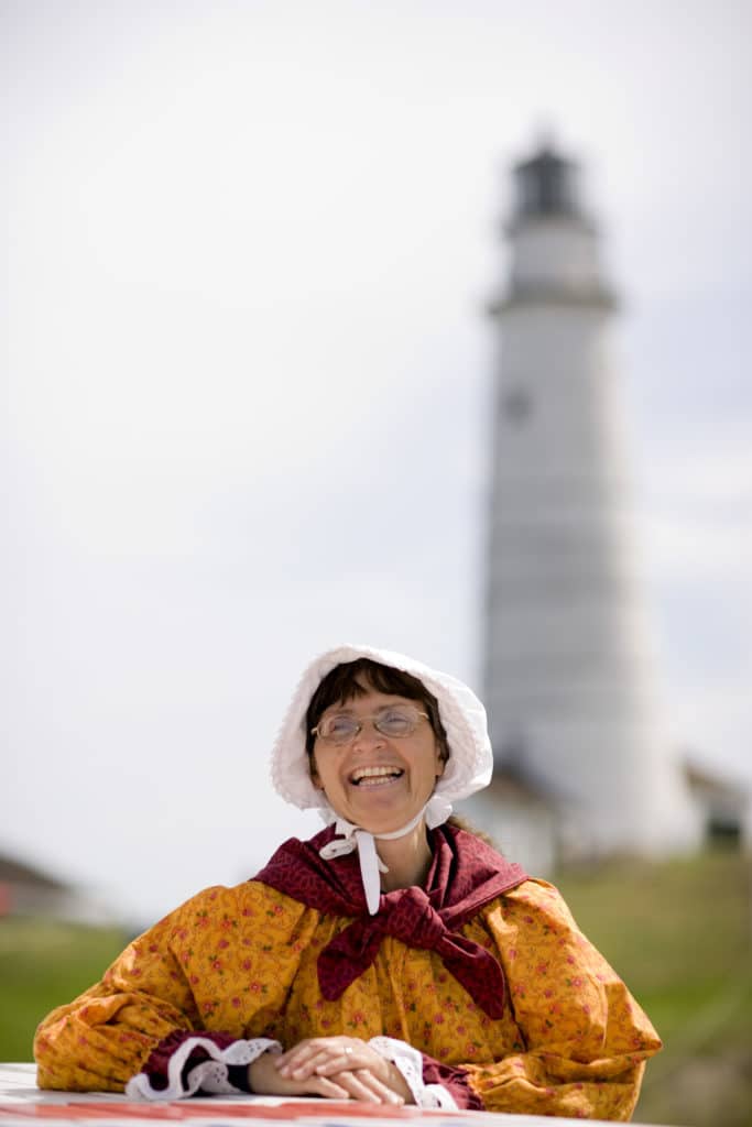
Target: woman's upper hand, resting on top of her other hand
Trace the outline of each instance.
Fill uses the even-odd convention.
[[[311,1037],[273,1057],[273,1064],[285,1080],[328,1081],[345,1089],[351,1100],[413,1102],[399,1068],[357,1037]]]

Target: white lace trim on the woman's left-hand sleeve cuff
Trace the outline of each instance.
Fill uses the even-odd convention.
[[[201,1061],[183,1077],[183,1070],[194,1049],[205,1049],[211,1061]],[[143,1100],[180,1100],[186,1095],[195,1095],[197,1091],[210,1095],[247,1094],[245,1089],[236,1088],[228,1080],[228,1066],[251,1064],[267,1049],[281,1053],[278,1041],[267,1037],[255,1037],[251,1040],[237,1040],[225,1049],[219,1048],[210,1037],[188,1037],[179,1045],[169,1058],[167,1066],[167,1088],[152,1088],[151,1080],[144,1072],[131,1077],[125,1085],[125,1094],[131,1099]]]

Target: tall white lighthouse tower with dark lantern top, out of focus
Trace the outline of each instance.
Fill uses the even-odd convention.
[[[567,854],[657,854],[700,827],[655,696],[616,301],[576,172],[548,147],[514,170],[511,273],[494,308],[485,694],[501,773],[547,793]]]

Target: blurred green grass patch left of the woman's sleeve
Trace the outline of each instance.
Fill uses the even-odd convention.
[[[115,928],[0,920],[0,1061],[30,1061],[42,1018],[97,982],[125,942]]]

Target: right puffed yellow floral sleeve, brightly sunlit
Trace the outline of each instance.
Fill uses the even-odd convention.
[[[501,1061],[465,1066],[484,1107],[628,1120],[645,1062],[661,1041],[559,893],[528,880],[489,906],[485,926],[504,967],[520,1040]]]

